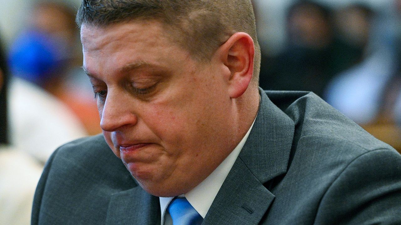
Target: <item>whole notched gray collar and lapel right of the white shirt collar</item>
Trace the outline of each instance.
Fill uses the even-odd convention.
[[[255,124],[203,225],[259,224],[274,199],[263,184],[286,173],[293,137],[294,122],[261,90]]]

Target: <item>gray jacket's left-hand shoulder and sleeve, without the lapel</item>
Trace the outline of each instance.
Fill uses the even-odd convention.
[[[104,221],[111,195],[135,186],[102,135],[67,143],[45,166],[34,197],[32,225],[65,224],[66,219],[79,224]]]

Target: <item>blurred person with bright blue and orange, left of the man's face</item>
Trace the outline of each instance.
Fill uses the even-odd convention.
[[[12,73],[62,100],[90,135],[101,132],[91,87],[83,85],[87,78],[79,68],[81,48],[77,48],[73,9],[61,2],[40,1],[29,22],[11,46]]]

